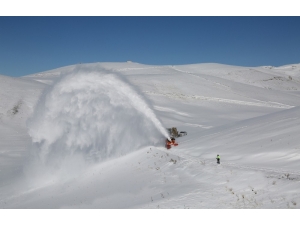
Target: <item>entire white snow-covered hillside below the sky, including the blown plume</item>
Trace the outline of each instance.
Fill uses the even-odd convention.
[[[1,75],[0,207],[300,208],[299,130],[300,64]]]

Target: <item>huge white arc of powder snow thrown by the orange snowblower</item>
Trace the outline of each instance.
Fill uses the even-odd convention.
[[[63,74],[27,125],[39,164],[52,167],[79,167],[168,138],[142,95],[122,75],[97,65]]]

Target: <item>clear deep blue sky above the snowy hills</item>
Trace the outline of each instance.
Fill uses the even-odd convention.
[[[0,17],[0,74],[91,62],[300,63],[300,17]]]

